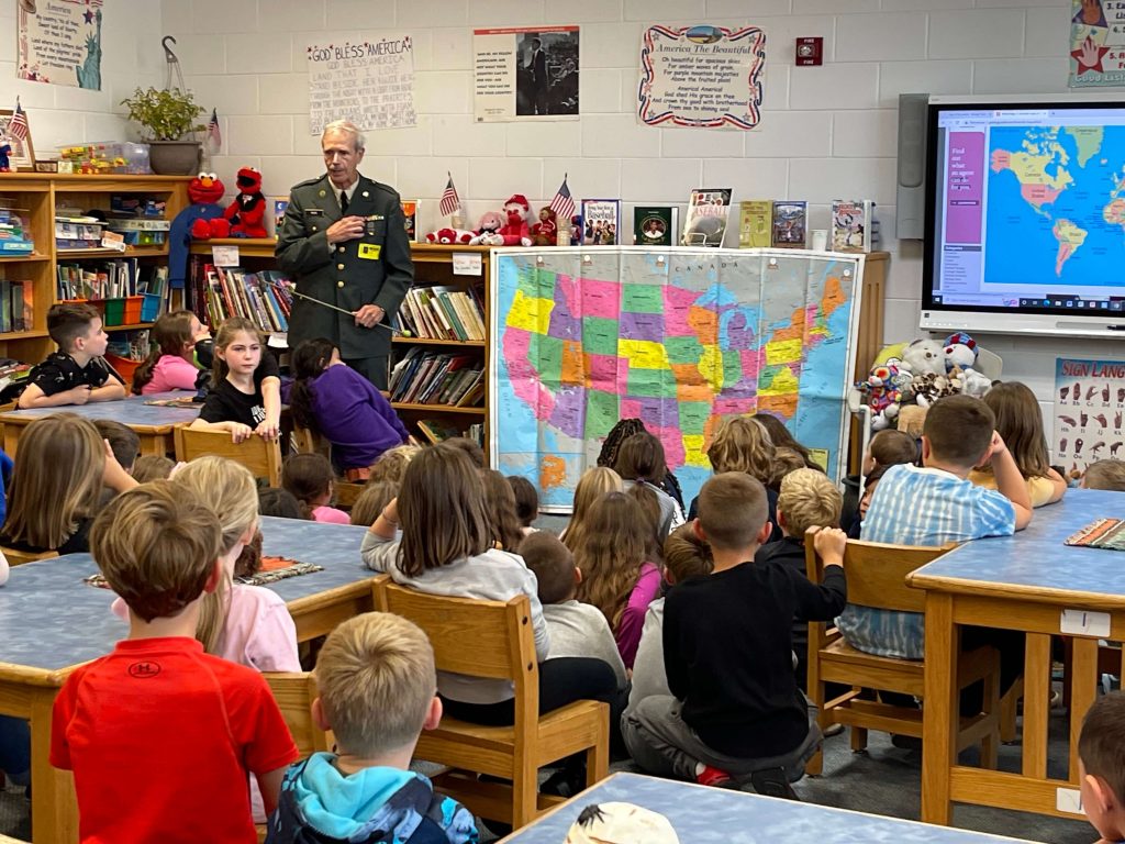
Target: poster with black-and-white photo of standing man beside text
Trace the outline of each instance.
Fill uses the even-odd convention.
[[[477,123],[578,119],[578,27],[472,30]]]

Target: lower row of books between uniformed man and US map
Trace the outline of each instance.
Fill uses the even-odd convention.
[[[479,407],[485,397],[484,367],[478,356],[415,345],[395,363],[389,387],[392,402]]]

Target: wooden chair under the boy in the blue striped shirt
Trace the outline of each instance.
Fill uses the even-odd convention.
[[[906,576],[919,566],[954,548],[954,545],[916,547],[848,540],[844,553],[848,603],[880,610],[925,612],[925,592],[907,586]],[[806,544],[809,580],[819,583],[824,565]],[[984,711],[961,719],[957,749],[980,743],[981,761],[996,767],[1000,730],[1000,655],[992,647],[976,648],[960,658],[957,689],[984,681]],[[826,700],[826,684],[849,686]],[[864,697],[864,690],[899,692],[921,698],[925,693],[925,663],[875,656],[844,641],[839,631],[825,622],[809,623],[809,694],[817,704],[821,730],[832,724],[852,727],[852,749],[867,746],[867,730],[879,729],[920,738],[920,709],[892,706]],[[817,753],[806,770],[818,774],[824,756]]]

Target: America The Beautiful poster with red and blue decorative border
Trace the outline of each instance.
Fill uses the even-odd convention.
[[[766,34],[757,27],[650,26],[637,115],[649,126],[753,129],[762,120]]]

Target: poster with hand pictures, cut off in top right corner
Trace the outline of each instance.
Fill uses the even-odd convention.
[[[1070,87],[1125,86],[1125,3],[1071,0]]]

